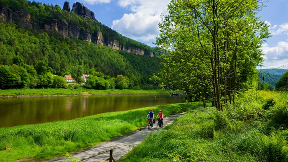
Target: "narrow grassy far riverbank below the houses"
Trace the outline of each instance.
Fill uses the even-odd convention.
[[[0,98],[8,97],[47,97],[47,96],[78,96],[78,95],[124,95],[124,94],[152,94],[173,93],[175,91],[162,89],[107,89],[95,90],[83,87],[75,89],[47,88],[47,89],[0,89]]]

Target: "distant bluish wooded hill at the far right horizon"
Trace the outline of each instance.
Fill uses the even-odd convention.
[[[264,83],[269,84],[271,87],[275,87],[275,83],[279,81],[281,76],[288,71],[288,69],[282,68],[265,68],[265,69],[257,69],[259,81],[261,84],[263,83],[263,76],[264,76]]]

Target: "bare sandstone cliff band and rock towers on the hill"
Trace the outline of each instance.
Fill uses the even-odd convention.
[[[63,5],[63,10],[70,12],[69,2],[66,1]],[[73,4],[71,12],[82,16],[87,20],[97,21],[94,12],[90,11],[82,3],[76,2]],[[54,31],[63,37],[79,38],[96,45],[105,45],[115,50],[124,50],[138,55],[148,55],[153,57],[154,54],[140,47],[129,46],[125,47],[117,39],[109,39],[102,34],[101,31],[92,33],[87,29],[80,29],[76,24],[69,24],[65,19],[52,19],[44,21],[41,25],[36,25],[31,21],[31,15],[27,11],[11,11],[5,6],[0,6],[0,20],[4,23],[16,23],[24,28],[43,29],[45,31]]]

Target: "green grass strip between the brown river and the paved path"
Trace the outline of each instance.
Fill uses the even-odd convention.
[[[187,111],[191,105],[176,103],[153,106],[164,115]],[[147,124],[151,107],[108,112],[66,121],[0,128],[0,161],[15,161],[26,157],[49,159],[64,156],[97,143],[121,136]]]

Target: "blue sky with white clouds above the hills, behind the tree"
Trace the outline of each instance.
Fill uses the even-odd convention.
[[[159,34],[158,23],[161,14],[167,14],[170,0],[34,0],[59,5],[65,1],[70,9],[75,2],[83,3],[94,12],[95,18],[102,24],[120,34],[155,46]],[[265,7],[257,13],[260,20],[270,25],[271,37],[262,44],[263,63],[257,68],[288,69],[288,0],[262,0]]]

